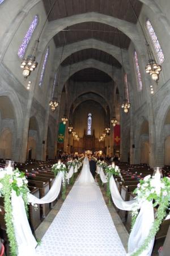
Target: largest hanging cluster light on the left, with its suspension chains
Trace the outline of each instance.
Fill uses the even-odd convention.
[[[50,15],[50,13],[52,12],[52,9],[53,9],[54,5],[56,5],[56,2],[57,2],[57,0],[53,3],[52,7],[49,10],[48,15],[46,16],[45,23],[42,26],[42,29],[41,29],[40,34],[39,34],[39,37],[35,41],[35,45],[32,47],[31,53],[24,60],[22,60],[20,68],[23,68],[24,79],[27,79],[27,77],[31,74],[32,71],[35,70],[35,68],[38,65],[38,63],[36,61],[36,53],[37,53],[37,48],[38,48],[39,42],[40,42],[39,39],[40,39],[40,36],[42,34],[42,30],[44,29],[45,24],[46,24],[46,22],[48,20],[48,17]]]

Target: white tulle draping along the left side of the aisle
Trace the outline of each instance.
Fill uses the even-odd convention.
[[[67,174],[67,179],[70,179],[73,173],[74,168],[71,167]],[[49,192],[41,199],[28,193],[28,202],[32,204],[47,204],[56,200],[61,190],[62,177],[63,173],[58,172]],[[21,196],[16,196],[15,191],[12,191],[11,203],[15,237],[18,244],[18,256],[36,256],[35,247],[37,246],[37,242],[33,237],[29,226],[28,218],[25,213],[24,201]]]

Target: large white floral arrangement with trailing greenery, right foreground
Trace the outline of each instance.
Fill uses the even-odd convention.
[[[132,209],[132,226],[138,216],[138,210],[144,201],[152,201],[153,207],[158,206],[150,233],[143,245],[132,255],[138,256],[141,255],[142,251],[147,248],[151,240],[155,237],[160,224],[162,224],[162,221],[168,214],[167,209],[170,202],[170,179],[169,177],[164,177],[163,179],[158,180],[156,176],[151,177],[151,175],[147,175],[143,180],[139,181],[139,184],[133,193],[137,194],[137,203]]]

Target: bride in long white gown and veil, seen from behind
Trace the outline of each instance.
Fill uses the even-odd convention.
[[[83,168],[80,173],[78,183],[81,183],[81,184],[95,183],[94,177],[92,176],[90,171],[90,164],[87,156],[85,156],[84,158]]]

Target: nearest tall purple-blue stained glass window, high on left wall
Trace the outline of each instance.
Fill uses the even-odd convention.
[[[24,53],[27,49],[28,43],[31,39],[33,31],[35,30],[38,22],[39,22],[39,18],[38,18],[37,15],[35,15],[35,17],[33,18],[32,22],[31,22],[31,25],[28,28],[27,34],[24,36],[23,42],[19,47],[18,56],[20,57],[20,59],[23,59],[23,56],[24,56]]]

